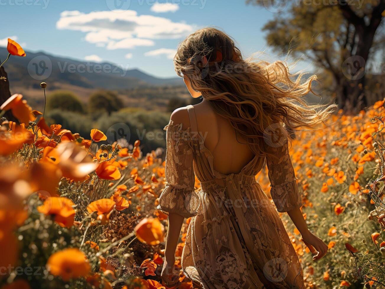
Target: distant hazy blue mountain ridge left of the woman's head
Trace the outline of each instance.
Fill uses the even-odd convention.
[[[66,86],[84,89],[124,90],[151,86],[181,85],[181,79],[156,78],[133,69],[126,70],[112,63],[95,63],[49,55],[43,52],[26,51],[27,56],[11,56],[4,66],[12,87],[25,89],[40,88],[40,82],[49,83],[51,89]],[[8,52],[0,47],[0,58]]]

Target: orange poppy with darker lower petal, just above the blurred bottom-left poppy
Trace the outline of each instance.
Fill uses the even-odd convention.
[[[74,224],[75,204],[64,197],[49,197],[37,210],[45,215],[54,215],[56,223],[61,227],[71,227]]]

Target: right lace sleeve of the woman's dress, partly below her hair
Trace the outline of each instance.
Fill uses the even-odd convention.
[[[270,194],[277,211],[287,212],[300,208],[302,201],[289,155],[287,137],[279,145],[268,146],[268,151],[277,157],[266,156],[271,186]]]

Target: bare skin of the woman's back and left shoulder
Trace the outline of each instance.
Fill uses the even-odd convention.
[[[216,114],[208,101],[194,105],[198,131],[204,138],[206,146],[213,155],[213,166],[222,174],[239,173],[253,158],[246,140],[236,135],[230,121]],[[183,128],[190,124],[187,108],[179,108],[171,115],[175,123],[183,123]],[[237,139],[238,138],[238,139]]]

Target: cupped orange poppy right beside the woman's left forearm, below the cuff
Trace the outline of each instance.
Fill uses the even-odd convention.
[[[164,227],[157,218],[144,218],[135,227],[136,236],[139,241],[147,242],[154,246],[163,241]]]

